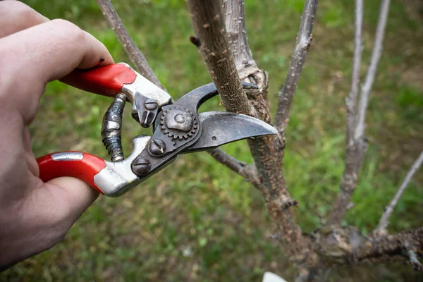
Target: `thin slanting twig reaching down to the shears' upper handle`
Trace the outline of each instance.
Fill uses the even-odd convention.
[[[147,78],[147,80],[153,82],[155,85],[164,89],[164,86],[161,85],[161,82],[154,74],[152,68],[149,67],[145,56],[142,54],[140,49],[130,37],[128,30],[126,30],[125,25],[123,25],[121,18],[116,13],[114,6],[111,4],[110,0],[97,0],[97,4],[103,12],[104,18],[106,18],[107,23],[109,23],[111,29],[116,33],[116,36],[121,42],[123,49],[125,49],[126,54],[130,61],[135,65],[138,72]]]

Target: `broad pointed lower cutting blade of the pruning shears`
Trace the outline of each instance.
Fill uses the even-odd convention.
[[[201,151],[248,137],[278,133],[278,130],[268,123],[243,114],[207,111],[198,114],[198,118],[202,123],[200,139],[183,152]]]

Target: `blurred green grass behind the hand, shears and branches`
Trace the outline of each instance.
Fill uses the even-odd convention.
[[[104,42],[115,61],[123,48],[94,0],[25,0],[49,18],[65,18]],[[137,46],[173,97],[211,82],[183,0],[121,0],[114,5]],[[372,231],[407,169],[423,148],[423,13],[419,0],[393,0],[384,53],[367,116],[369,150],[345,224]],[[380,1],[365,1],[367,68]],[[252,54],[269,72],[275,108],[285,80],[304,0],[245,1]],[[286,133],[284,171],[300,203],[303,231],[321,226],[343,173],[344,99],[350,89],[354,1],[321,1],[313,44],[294,99]],[[71,55],[70,55],[71,56]],[[110,99],[51,82],[31,125],[32,146],[42,156],[82,150],[107,159],[102,114]],[[128,110],[127,106],[127,110]],[[202,110],[223,110],[214,98]],[[123,140],[148,134],[125,111]],[[223,147],[252,161],[245,142]],[[417,173],[391,219],[390,231],[423,225],[422,173]],[[99,197],[63,243],[13,266],[0,281],[261,281],[264,271],[290,279],[293,270],[271,239],[260,193],[202,152],[180,156],[127,195]],[[342,276],[340,276],[342,275]],[[331,281],[422,281],[410,266],[358,266],[333,271]]]

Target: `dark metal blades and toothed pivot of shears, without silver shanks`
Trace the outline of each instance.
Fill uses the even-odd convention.
[[[256,87],[243,83],[243,87]],[[156,173],[178,154],[202,151],[213,147],[277,130],[257,118],[228,112],[197,110],[208,99],[219,94],[213,83],[185,94],[174,104],[163,106],[154,124],[154,134],[147,148],[136,157],[131,168],[140,178]]]

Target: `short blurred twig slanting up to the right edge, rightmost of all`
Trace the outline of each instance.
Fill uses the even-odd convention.
[[[389,223],[389,217],[391,216],[393,210],[395,209],[396,205],[398,204],[398,201],[400,200],[401,195],[403,195],[403,192],[405,191],[405,188],[407,188],[408,183],[410,183],[410,180],[412,176],[415,175],[417,170],[420,166],[422,166],[423,162],[423,151],[420,153],[419,157],[416,159],[415,163],[412,164],[410,171],[408,171],[407,176],[405,176],[403,183],[401,183],[398,191],[396,192],[396,195],[393,197],[391,202],[389,203],[388,207],[386,207],[384,214],[382,215],[379,224],[377,225],[375,233],[384,233],[386,232],[386,227]]]

